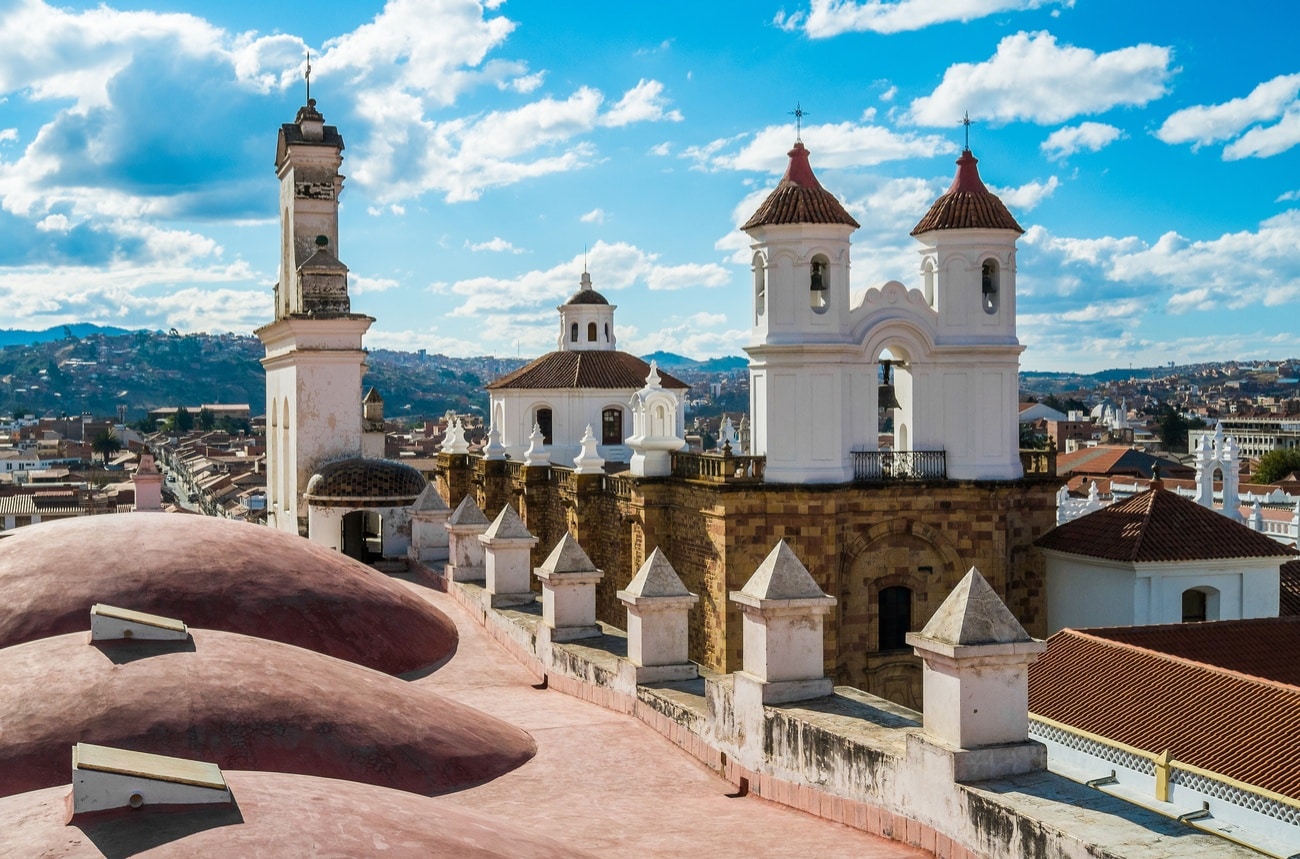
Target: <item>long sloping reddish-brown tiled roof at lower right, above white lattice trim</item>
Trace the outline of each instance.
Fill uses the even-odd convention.
[[[1230,629],[1221,646],[1249,635]],[[1300,798],[1296,686],[1065,629],[1030,667],[1030,711]]]

